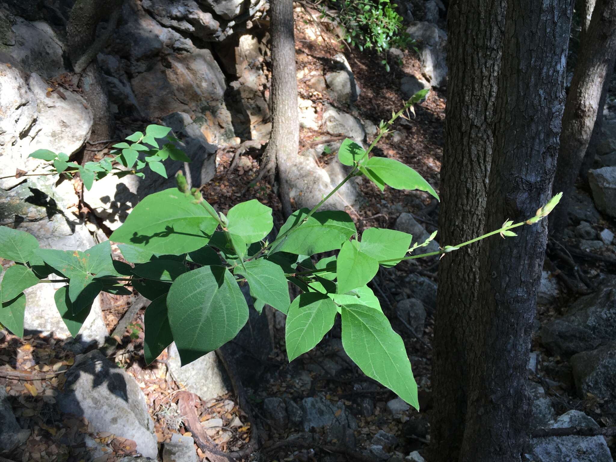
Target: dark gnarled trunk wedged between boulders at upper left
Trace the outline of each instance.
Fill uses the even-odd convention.
[[[107,7],[95,0],[78,0],[68,18],[69,56],[73,69],[81,75],[79,87],[94,115],[90,136],[94,141],[112,139],[115,132],[109,112],[107,86],[96,62],[96,55],[105,47],[115,30],[120,9],[120,0],[111,1]],[[97,26],[104,20],[107,20],[107,29],[97,38]]]

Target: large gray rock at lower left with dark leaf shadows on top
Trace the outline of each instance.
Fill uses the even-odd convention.
[[[131,439],[146,457],[158,455],[154,424],[139,385],[100,351],[77,357],[58,405],[62,412],[85,417],[95,432]]]

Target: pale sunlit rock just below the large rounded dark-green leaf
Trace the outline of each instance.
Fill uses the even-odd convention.
[[[175,342],[169,345],[168,352],[169,373],[175,381],[183,384],[187,391],[194,393],[204,401],[229,392],[225,384],[224,372],[213,351],[181,367],[180,355]]]

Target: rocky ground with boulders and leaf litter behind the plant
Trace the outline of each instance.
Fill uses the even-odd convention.
[[[269,134],[267,15],[261,2],[248,10],[221,4],[211,14],[190,0],[126,2],[119,33],[98,57],[118,136],[147,121],[172,126],[196,159],[193,183],[203,184],[211,204],[226,211],[258,198],[281,222],[275,187],[253,184]],[[298,4],[300,153],[320,188],[343,174],[335,156],[343,137],[367,145],[376,124],[424,87],[432,91],[416,105],[415,117],[400,120],[375,152],[439,185],[447,75],[439,5],[405,3],[419,54],[392,51],[387,73],[381,57],[341,48],[335,29],[317,27],[314,11]],[[108,143],[87,142],[92,113],[67,85],[56,23],[25,7],[11,11],[0,24],[0,103],[14,115],[0,121],[0,145],[12,147],[2,152],[2,176],[40,169],[23,155],[38,147],[101,158]],[[609,103],[590,186],[577,189],[565,240],[548,244],[529,358],[533,429],[616,424],[612,109]],[[108,177],[87,192],[78,180],[0,181],[1,224],[65,249],[104,240],[140,198],[170,184],[152,175]],[[296,206],[310,203],[310,194],[302,193],[309,182],[314,177],[291,195]],[[391,227],[418,241],[436,230],[438,205],[425,193],[380,192],[357,180],[332,199],[358,229]],[[225,453],[245,461],[422,461],[430,439],[437,267],[436,259],[402,262],[379,270],[371,285],[405,338],[419,413],[353,365],[342,350],[339,323],[314,351],[288,363],[282,315],[265,309],[259,317],[251,310],[221,357],[211,353],[180,368],[171,346],[147,367],[145,299],[103,294],[72,340],[52,314],[59,285],[28,290],[28,335],[0,332],[0,455],[14,462],[221,461]],[[616,442],[604,437],[537,438],[528,448],[529,460],[537,462],[611,462],[614,452]]]

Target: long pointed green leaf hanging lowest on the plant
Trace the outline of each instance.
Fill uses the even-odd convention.
[[[344,305],[342,347],[370,378],[391,389],[419,410],[417,384],[402,338],[385,315],[364,305]]]

